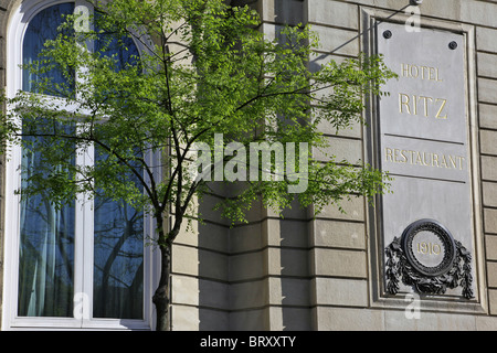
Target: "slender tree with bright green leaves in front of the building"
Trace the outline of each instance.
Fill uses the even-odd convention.
[[[381,57],[309,69],[318,43],[309,26],[285,26],[268,39],[255,11],[222,0],[91,2],[94,15],[67,15],[27,65],[35,88],[3,97],[2,152],[19,145],[40,156],[38,169],[23,174],[23,197],[43,194],[62,207],[84,194],[154,217],[158,330],[169,328],[171,245],[183,222],[198,216],[193,200],[212,181],[243,185],[219,204],[233,223],[244,222],[256,200],[278,212],[298,200],[318,213],[350,194],[385,190],[388,175],[368,164],[316,157],[328,147],[320,124],[338,130],[362,121],[364,95],[381,95],[394,77]],[[129,39],[139,55],[129,52]],[[108,54],[113,46],[128,57]],[[91,148],[94,164],[74,163]],[[109,245],[115,254],[118,244]]]

